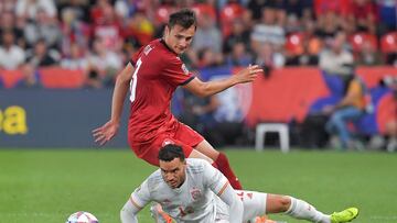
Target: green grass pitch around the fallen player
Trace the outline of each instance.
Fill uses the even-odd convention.
[[[326,213],[356,205],[355,222],[397,222],[396,154],[225,152],[246,189],[301,198]],[[117,223],[129,194],[153,170],[128,149],[0,149],[0,222],[65,222],[85,210]],[[148,209],[139,219],[152,222]]]

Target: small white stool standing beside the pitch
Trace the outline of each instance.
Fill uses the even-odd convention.
[[[267,132],[277,132],[280,137],[280,148],[282,153],[289,152],[289,127],[285,123],[259,123],[256,127],[255,149],[264,150],[265,134]]]

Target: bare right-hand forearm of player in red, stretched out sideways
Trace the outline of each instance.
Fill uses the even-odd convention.
[[[198,78],[194,78],[183,88],[191,91],[192,93],[198,97],[208,97],[221,91],[226,90],[227,88],[235,86],[237,83],[251,82],[258,76],[259,73],[264,70],[259,68],[258,65],[250,65],[242,70],[239,70],[236,75],[232,75],[229,78],[222,80],[213,80],[203,82]]]

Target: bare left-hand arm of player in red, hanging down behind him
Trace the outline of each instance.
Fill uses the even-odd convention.
[[[95,143],[98,143],[99,145],[105,145],[117,134],[122,113],[122,105],[126,100],[133,70],[133,66],[128,63],[128,65],[116,79],[115,90],[111,99],[111,118],[103,126],[93,131]]]

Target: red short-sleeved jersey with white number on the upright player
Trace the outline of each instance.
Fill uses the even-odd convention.
[[[135,71],[130,81],[129,141],[148,142],[175,125],[170,110],[172,94],[194,76],[163,40],[141,47],[131,64]]]

